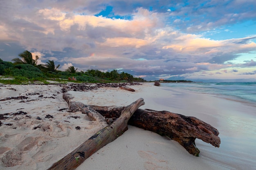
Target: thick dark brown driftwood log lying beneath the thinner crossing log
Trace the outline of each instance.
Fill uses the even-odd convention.
[[[92,106],[94,110],[104,117],[119,117],[124,107],[118,106]],[[155,111],[138,109],[130,118],[128,124],[145,130],[165,135],[179,142],[190,154],[199,155],[195,146],[195,139],[209,143],[215,147],[220,146],[219,132],[216,128],[197,119],[168,111]]]

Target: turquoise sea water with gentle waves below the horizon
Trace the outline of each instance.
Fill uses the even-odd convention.
[[[223,95],[256,103],[256,82],[227,83],[162,83],[161,86],[183,88],[189,91]]]

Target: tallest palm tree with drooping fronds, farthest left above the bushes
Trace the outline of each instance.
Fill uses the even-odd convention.
[[[32,54],[29,51],[24,51],[23,53],[20,53],[19,56],[22,58],[14,58],[12,61],[14,61],[14,64],[31,64],[33,66],[36,66],[37,60],[39,57],[36,55],[36,60],[33,59]]]

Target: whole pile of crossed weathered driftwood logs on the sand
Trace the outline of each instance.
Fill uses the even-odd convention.
[[[63,92],[63,99],[67,101],[71,112],[79,110],[83,114],[87,114],[91,121],[101,122],[103,128],[47,170],[76,169],[97,150],[122,135],[128,129],[128,124],[170,137],[195,156],[199,156],[200,152],[195,146],[196,138],[215,147],[220,146],[219,132],[216,128],[196,117],[168,111],[139,109],[144,105],[142,98],[126,107],[94,106],[74,102],[72,97],[65,93],[66,91]]]

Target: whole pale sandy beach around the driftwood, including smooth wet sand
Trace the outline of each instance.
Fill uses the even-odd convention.
[[[45,170],[103,127],[81,112],[68,112],[62,86],[0,84],[0,170]],[[255,106],[153,83],[128,87],[135,92],[105,87],[67,93],[75,101],[97,106],[127,106],[142,97],[145,105],[140,108],[194,116],[211,124],[220,132],[220,148],[196,140],[200,156],[195,157],[176,141],[128,126],[77,170],[255,169]]]

